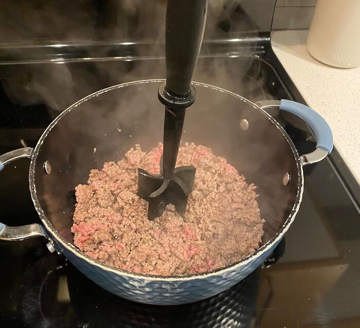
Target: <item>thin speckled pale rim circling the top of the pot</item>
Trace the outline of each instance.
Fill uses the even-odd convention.
[[[45,138],[47,137],[47,135],[50,133],[50,131],[52,130],[52,128],[60,121],[60,119],[65,116],[67,113],[69,113],[71,110],[75,110],[76,107],[78,107],[80,104],[82,104],[83,102],[97,97],[103,93],[109,92],[111,90],[114,89],[118,89],[121,87],[125,87],[125,86],[130,86],[130,85],[135,85],[135,84],[147,84],[147,83],[161,83],[164,82],[165,79],[149,79],[149,80],[138,80],[138,81],[132,81],[132,82],[127,82],[127,83],[121,83],[121,84],[117,84],[117,85],[113,85],[101,90],[98,90],[97,92],[88,95],[82,99],[80,99],[79,101],[77,101],[76,103],[70,105],[69,107],[66,108],[66,110],[64,110],[55,120],[53,120],[49,126],[46,128],[46,130],[44,131],[44,133],[42,134],[41,138],[39,139],[36,147],[34,148],[34,151],[32,153],[31,156],[31,161],[30,161],[30,170],[29,170],[29,186],[30,186],[30,193],[31,193],[31,198],[32,201],[34,203],[34,207],[37,210],[40,219],[43,223],[43,225],[45,226],[46,230],[50,233],[51,238],[55,239],[56,242],[60,243],[64,248],[66,248],[68,251],[70,251],[71,253],[73,253],[76,257],[81,258],[82,260],[88,262],[89,264],[95,265],[105,271],[110,271],[114,274],[117,275],[121,275],[121,276],[127,276],[129,278],[134,278],[134,279],[149,279],[149,280],[156,280],[156,281],[189,281],[189,280],[194,280],[194,279],[199,279],[199,278],[207,278],[210,276],[218,276],[218,275],[224,275],[226,272],[232,271],[234,269],[237,269],[238,267],[242,267],[246,264],[248,264],[249,262],[259,258],[264,252],[266,252],[267,250],[271,249],[272,246],[274,244],[276,244],[277,242],[279,242],[281,240],[281,238],[283,237],[283,235],[285,234],[285,232],[287,231],[287,229],[289,229],[291,223],[294,221],[296,213],[299,210],[299,205],[301,203],[301,199],[302,199],[302,193],[303,193],[303,170],[302,170],[302,165],[301,165],[301,160],[300,160],[300,156],[297,152],[297,149],[295,148],[295,145],[293,143],[293,141],[290,139],[289,135],[287,135],[287,133],[285,132],[285,130],[283,129],[283,127],[269,114],[267,114],[264,110],[262,110],[259,106],[257,106],[255,103],[249,101],[248,99],[239,96],[235,93],[232,93],[226,89],[217,87],[217,86],[213,86],[210,84],[206,84],[206,83],[201,83],[201,82],[194,82],[192,81],[192,84],[194,84],[195,86],[202,86],[202,87],[206,87],[206,88],[211,88],[223,93],[227,93],[231,96],[234,96],[242,101],[244,101],[245,103],[251,105],[255,110],[259,111],[261,114],[265,115],[269,120],[272,121],[273,124],[275,124],[275,126],[278,128],[279,132],[284,136],[284,138],[286,139],[286,141],[289,143],[290,148],[294,154],[294,159],[296,161],[296,165],[297,165],[297,169],[298,169],[298,178],[299,178],[299,184],[298,184],[298,189],[297,189],[297,195],[296,195],[296,199],[294,202],[294,206],[289,214],[289,216],[287,216],[284,224],[281,226],[281,228],[277,231],[277,233],[273,236],[272,239],[270,239],[268,242],[266,242],[264,245],[262,245],[260,248],[258,248],[254,253],[249,254],[248,256],[246,256],[245,258],[243,258],[240,261],[237,261],[235,263],[231,263],[227,266],[224,267],[220,267],[217,268],[215,270],[212,271],[206,271],[206,272],[201,272],[199,274],[191,274],[191,275],[179,275],[179,276],[160,276],[160,275],[146,275],[146,274],[138,274],[136,272],[132,272],[132,271],[128,271],[128,270],[124,270],[124,269],[120,269],[120,268],[116,268],[114,266],[108,265],[108,264],[104,264],[98,260],[95,260],[89,256],[87,256],[84,252],[82,252],[80,249],[78,249],[74,244],[71,244],[70,242],[66,241],[64,238],[62,238],[62,236],[60,236],[60,234],[58,233],[58,231],[52,226],[52,224],[50,223],[50,221],[48,220],[48,218],[46,217],[44,211],[42,210],[38,197],[37,197],[37,191],[35,188],[35,163],[37,160],[37,156],[39,154],[39,151],[41,149],[41,146],[45,140]]]

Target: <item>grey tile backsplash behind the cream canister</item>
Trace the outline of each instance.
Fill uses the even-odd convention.
[[[273,30],[308,29],[317,0],[277,0]]]

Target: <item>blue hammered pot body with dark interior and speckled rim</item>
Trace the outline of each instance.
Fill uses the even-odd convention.
[[[42,226],[24,226],[25,232],[14,238],[16,231],[0,224],[0,238],[45,235],[50,241],[49,249],[62,252],[89,279],[113,294],[141,303],[201,300],[235,285],[255,270],[294,221],[302,197],[302,166],[307,157],[299,156],[283,128],[260,107],[203,83],[193,83],[197,98],[187,111],[182,142],[210,147],[215,155],[225,157],[244,174],[248,183],[257,186],[261,217],[265,219],[259,249],[237,263],[211,272],[164,277],[105,265],[73,244],[70,228],[75,187],[86,183],[91,169],[101,169],[105,161],[118,161],[134,144],[139,143],[148,151],[161,141],[164,108],[157,101],[157,87],[162,81],[130,82],[89,95],[61,113],[34,150],[17,150],[17,156],[2,155],[2,165],[20,157],[31,158],[30,191]],[[316,134],[317,130],[313,130]],[[325,151],[323,147],[318,149]]]

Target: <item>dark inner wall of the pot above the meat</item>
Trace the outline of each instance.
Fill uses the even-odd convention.
[[[163,138],[164,106],[157,100],[160,80],[105,89],[68,108],[43,136],[34,183],[46,217],[73,243],[70,228],[75,187],[86,184],[91,169],[118,161],[136,143],[145,151]],[[196,101],[186,111],[182,143],[195,142],[223,156],[257,186],[266,243],[291,213],[301,188],[296,157],[279,127],[258,107],[225,90],[195,84]],[[240,121],[246,119],[248,129]],[[96,148],[96,152],[94,152]],[[51,173],[44,171],[48,161]],[[290,183],[283,186],[285,173]]]

